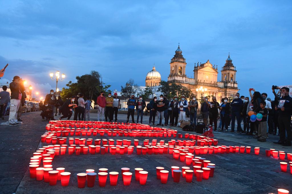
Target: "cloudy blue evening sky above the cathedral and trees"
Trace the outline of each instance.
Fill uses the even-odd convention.
[[[111,89],[145,85],[155,63],[167,80],[180,43],[188,77],[194,63],[230,57],[240,93],[292,84],[292,1],[0,1],[0,82],[14,75],[45,95],[96,70]],[[2,68],[2,67],[1,67]],[[221,79],[218,74],[218,81]],[[60,88],[61,88],[60,87]]]

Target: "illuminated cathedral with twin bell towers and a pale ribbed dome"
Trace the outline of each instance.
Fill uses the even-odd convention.
[[[236,81],[236,67],[232,64],[230,55],[221,69],[221,80],[218,82],[218,68],[212,65],[209,60],[204,64],[194,65],[194,78],[187,77],[185,68],[187,63],[182,55],[180,46],[175,51],[174,57],[170,61],[170,74],[167,82],[169,84],[182,84],[189,88],[193,94],[200,96],[215,96],[219,102],[221,98],[233,97],[239,90]],[[161,81],[160,73],[153,67],[152,71],[147,73],[145,79],[146,87],[159,87]]]

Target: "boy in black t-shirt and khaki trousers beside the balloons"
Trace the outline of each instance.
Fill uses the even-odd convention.
[[[265,142],[267,139],[267,115],[268,115],[268,110],[265,108],[266,102],[262,101],[260,103],[260,110],[258,113],[263,115],[263,118],[261,121],[259,121],[258,124],[258,141],[259,142]]]

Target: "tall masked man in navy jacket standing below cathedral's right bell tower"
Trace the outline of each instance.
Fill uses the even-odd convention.
[[[234,132],[234,128],[235,128],[235,117],[237,120],[237,133],[241,133],[242,129],[241,129],[241,117],[240,117],[240,113],[242,110],[242,106],[243,106],[243,101],[239,98],[239,93],[235,94],[235,98],[234,100],[232,100],[232,102],[230,103],[230,106],[232,107],[231,109],[231,131],[230,132]]]

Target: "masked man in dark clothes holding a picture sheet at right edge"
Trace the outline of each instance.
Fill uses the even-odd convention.
[[[280,140],[275,144],[283,146],[291,146],[291,113],[292,113],[292,98],[289,96],[289,88],[281,88],[281,97],[275,110],[279,111],[278,125]],[[287,137],[285,139],[287,133]]]

